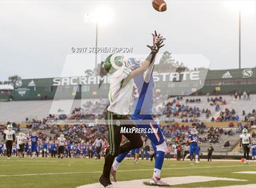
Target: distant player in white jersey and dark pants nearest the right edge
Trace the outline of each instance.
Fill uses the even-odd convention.
[[[249,152],[251,146],[251,135],[247,129],[243,129],[243,134],[240,135],[240,148],[243,146],[244,150],[244,164],[249,164]]]

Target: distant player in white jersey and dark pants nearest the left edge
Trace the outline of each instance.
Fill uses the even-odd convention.
[[[7,130],[4,130],[4,140],[7,152],[7,159],[12,155],[12,145],[15,142],[15,130],[12,130],[12,125],[7,125]]]

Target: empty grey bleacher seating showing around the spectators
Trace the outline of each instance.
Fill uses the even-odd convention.
[[[237,125],[240,123],[240,121],[244,120],[243,116],[243,110],[247,113],[252,112],[253,109],[255,109],[256,104],[256,95],[251,95],[250,101],[235,101],[233,96],[230,95],[224,95],[222,96],[222,99],[226,101],[226,104],[220,105],[220,109],[218,111],[215,110],[215,104],[211,105],[208,99],[211,98],[219,98],[219,96],[186,96],[182,99],[180,98],[169,98],[165,102],[163,102],[164,97],[160,98],[157,103],[155,104],[155,109],[164,110],[166,104],[168,102],[172,102],[174,99],[176,101],[179,101],[180,106],[188,106],[193,108],[197,108],[202,111],[202,109],[208,109],[210,110],[211,116],[213,116],[215,119],[219,116],[219,113],[224,109],[235,109],[235,114],[239,116],[239,121],[234,122],[234,127],[230,128],[229,121],[225,122],[211,122],[211,118],[206,118],[205,113],[201,113],[200,116],[196,116],[196,118],[191,117],[187,119],[193,119],[193,122],[196,121],[198,123],[205,123],[205,126],[207,126],[207,129],[209,127],[222,127],[224,131],[228,131],[232,129],[233,134],[232,135],[226,135],[224,133],[219,134],[218,141],[214,143],[210,143],[209,140],[204,141],[201,143],[201,153],[203,155],[207,154],[207,148],[212,144],[212,146],[215,149],[215,155],[241,155],[238,148],[238,141],[239,141],[239,135],[240,132],[237,132],[238,128]],[[194,100],[196,99],[196,101]],[[100,102],[99,102],[100,100]],[[190,101],[193,102],[190,102]],[[15,123],[21,123],[23,126],[21,126],[21,130],[24,133],[29,133],[30,130],[34,130],[34,124],[38,124],[37,122],[31,123],[31,121],[34,120],[42,120],[42,119],[55,119],[59,118],[59,115],[66,115],[67,119],[80,119],[81,114],[83,113],[91,113],[91,112],[97,112],[102,113],[105,106],[107,104],[107,99],[85,99],[85,100],[60,100],[60,101],[12,101],[12,102],[0,102],[0,122],[4,123],[7,121],[15,122]],[[176,103],[172,105],[172,107],[175,107]],[[52,113],[56,112],[56,113]],[[54,118],[49,117],[49,114],[52,114]],[[77,116],[78,115],[78,116]],[[48,117],[48,118],[46,118]],[[25,121],[27,118],[27,122]],[[191,122],[182,122],[185,118],[180,118],[180,116],[170,116],[169,118],[166,115],[157,116],[157,118],[162,122],[162,126],[165,127],[166,124],[174,124],[174,122],[179,122],[179,126],[193,126],[193,123]],[[33,120],[33,121],[34,121]],[[49,123],[50,121],[48,121]],[[240,123],[241,124],[241,123]],[[30,127],[28,126],[30,125]],[[52,126],[55,126],[55,124],[52,124]],[[37,130],[40,130],[43,135],[48,136],[48,138],[54,138],[56,132],[52,132],[52,129],[49,129],[49,126],[40,126],[40,123],[38,124],[39,128]],[[46,128],[47,127],[47,128]],[[165,128],[166,129],[166,128]],[[175,138],[176,136],[172,135],[171,129],[169,135],[166,136],[166,141],[169,144],[175,144]],[[64,130],[62,130],[64,131]],[[96,133],[98,130],[96,130]],[[99,133],[99,132],[98,132]],[[104,134],[102,136],[105,136]],[[207,130],[205,130],[204,133],[200,134],[199,137],[201,138],[207,138]],[[1,138],[0,138],[1,139]],[[229,141],[229,147],[224,147],[224,144]],[[149,145],[151,145],[149,143]],[[174,154],[174,150],[171,152]]]

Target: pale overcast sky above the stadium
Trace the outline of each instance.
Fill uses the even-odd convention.
[[[249,7],[241,10],[241,67],[255,67],[256,4],[243,3]],[[202,55],[210,61],[210,69],[238,68],[239,11],[232,4],[208,0],[166,4],[166,12],[157,12],[151,0],[1,0],[0,80],[10,75],[59,77],[63,69],[65,75],[73,76],[78,70],[93,69],[93,53],[74,54],[71,48],[95,46],[96,24],[85,22],[85,13],[94,12],[104,18],[98,24],[99,47],[132,47],[134,54],[146,55],[151,33],[157,30],[166,38],[162,52]],[[107,55],[99,54],[98,61]]]

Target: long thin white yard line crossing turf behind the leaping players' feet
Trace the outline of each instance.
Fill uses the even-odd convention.
[[[231,165],[231,166],[202,166],[202,167],[178,167],[178,168],[163,168],[162,170],[176,170],[176,169],[209,169],[209,168],[223,168],[223,167],[244,167],[244,165]],[[137,172],[137,171],[151,171],[152,169],[136,169],[136,170],[118,170],[118,172]],[[15,174],[15,175],[0,175],[0,177],[10,176],[36,176],[36,175],[61,175],[61,174],[76,174],[76,173],[102,173],[102,171],[91,171],[91,172],[55,172],[55,173],[26,173],[26,174]]]

